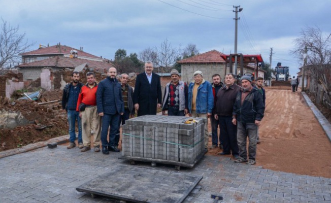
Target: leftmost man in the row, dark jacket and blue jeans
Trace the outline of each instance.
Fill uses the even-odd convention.
[[[78,124],[78,144],[79,148],[83,148],[83,139],[82,139],[82,122],[81,118],[79,117],[79,112],[76,111],[77,107],[77,100],[79,92],[83,86],[82,83],[79,82],[79,73],[73,72],[71,75],[72,82],[65,85],[62,94],[62,109],[65,109],[68,114],[68,122],[69,122],[69,145],[68,149],[76,147],[75,140],[76,140],[76,130],[75,130],[75,123],[77,120]]]

